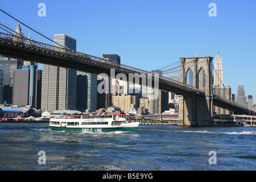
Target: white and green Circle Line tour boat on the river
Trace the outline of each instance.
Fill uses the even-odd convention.
[[[136,133],[139,122],[128,121],[125,114],[62,115],[50,118],[51,130],[82,131],[84,133],[125,131]]]

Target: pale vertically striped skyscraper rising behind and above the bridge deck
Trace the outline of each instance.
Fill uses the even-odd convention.
[[[76,39],[68,35],[54,35],[54,41],[76,51]],[[43,111],[76,109],[76,70],[44,64],[42,77]]]

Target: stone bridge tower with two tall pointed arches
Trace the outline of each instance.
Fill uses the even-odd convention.
[[[180,57],[180,82],[205,90],[205,95],[179,96],[180,126],[213,126],[213,57]]]

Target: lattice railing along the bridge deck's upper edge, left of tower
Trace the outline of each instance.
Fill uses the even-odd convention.
[[[123,71],[126,71],[126,72],[129,71],[129,72],[138,73],[138,74],[144,73],[144,74],[147,74],[146,76],[148,78],[152,78],[152,75],[154,75],[154,73],[152,73],[152,72],[148,72],[148,71],[144,71],[142,69],[130,67],[128,65],[118,64],[114,61],[109,61],[109,60],[101,58],[101,57],[96,57],[96,56],[92,56],[92,55],[87,55],[85,53],[76,52],[67,47],[52,46],[50,44],[36,42],[35,40],[28,39],[25,36],[23,36],[23,38],[20,38],[20,36],[15,36],[14,34],[11,35],[11,34],[5,34],[3,32],[0,32],[0,39],[5,40],[7,42],[17,44],[19,46],[25,46],[25,47],[30,47],[30,48],[34,48],[34,49],[42,49],[43,51],[48,51],[48,52],[53,52],[53,53],[60,53],[67,57],[69,56],[69,57],[77,57],[77,58],[81,58],[81,59],[87,59],[92,64],[95,62],[100,62],[101,64],[104,64],[105,66],[112,66],[115,69],[119,69],[119,70],[122,69]],[[204,94],[204,90],[200,90],[193,86],[183,84],[179,81],[172,80],[171,78],[159,76],[159,82],[166,82],[167,84],[176,85],[176,86],[182,87],[186,90],[191,90],[192,92]]]

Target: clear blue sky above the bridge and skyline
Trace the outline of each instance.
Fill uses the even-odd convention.
[[[46,16],[38,15],[39,3]],[[209,16],[210,3],[217,16]],[[233,94],[245,86],[256,104],[255,0],[0,0],[0,8],[51,39],[72,36],[79,52],[118,54],[121,64],[146,71],[193,57],[195,49],[199,57],[220,51],[224,84]]]

